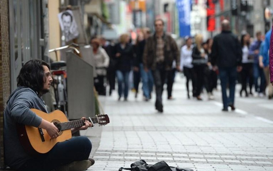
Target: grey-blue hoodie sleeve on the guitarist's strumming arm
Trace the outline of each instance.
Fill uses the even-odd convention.
[[[30,110],[35,100],[34,93],[22,91],[16,95],[10,108],[11,117],[18,123],[38,127],[42,118]]]

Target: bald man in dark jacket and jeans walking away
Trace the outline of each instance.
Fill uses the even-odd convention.
[[[232,110],[234,107],[236,67],[240,72],[242,61],[242,49],[238,38],[230,31],[230,22],[223,20],[222,33],[216,35],[212,45],[212,65],[217,64],[220,72],[220,80],[222,87],[223,111],[228,111],[228,106]],[[215,67],[214,67],[215,68]],[[227,83],[229,83],[230,95],[227,97]]]

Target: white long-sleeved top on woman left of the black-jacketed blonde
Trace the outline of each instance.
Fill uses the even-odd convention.
[[[184,45],[181,48],[180,53],[180,69],[183,70],[183,67],[192,68],[192,48],[194,46],[191,45],[191,47],[188,49],[187,45]]]

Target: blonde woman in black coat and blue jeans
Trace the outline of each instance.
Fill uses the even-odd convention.
[[[115,57],[117,59],[117,82],[118,82],[118,100],[124,95],[124,101],[127,101],[129,89],[129,72],[133,59],[132,45],[129,43],[128,34],[120,35],[120,42],[115,47]]]

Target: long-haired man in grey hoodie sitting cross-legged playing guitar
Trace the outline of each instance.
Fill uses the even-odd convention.
[[[19,141],[17,124],[44,129],[51,140],[59,136],[59,130],[53,123],[31,111],[34,108],[48,113],[41,96],[50,90],[52,78],[49,69],[46,62],[34,59],[20,70],[18,88],[10,95],[4,112],[5,163],[18,171],[86,170],[94,164],[94,159],[89,158],[92,144],[87,137],[73,137],[58,142],[49,152],[35,156],[29,155]],[[83,123],[84,126],[72,128],[71,131],[86,130],[93,126],[88,120]]]

